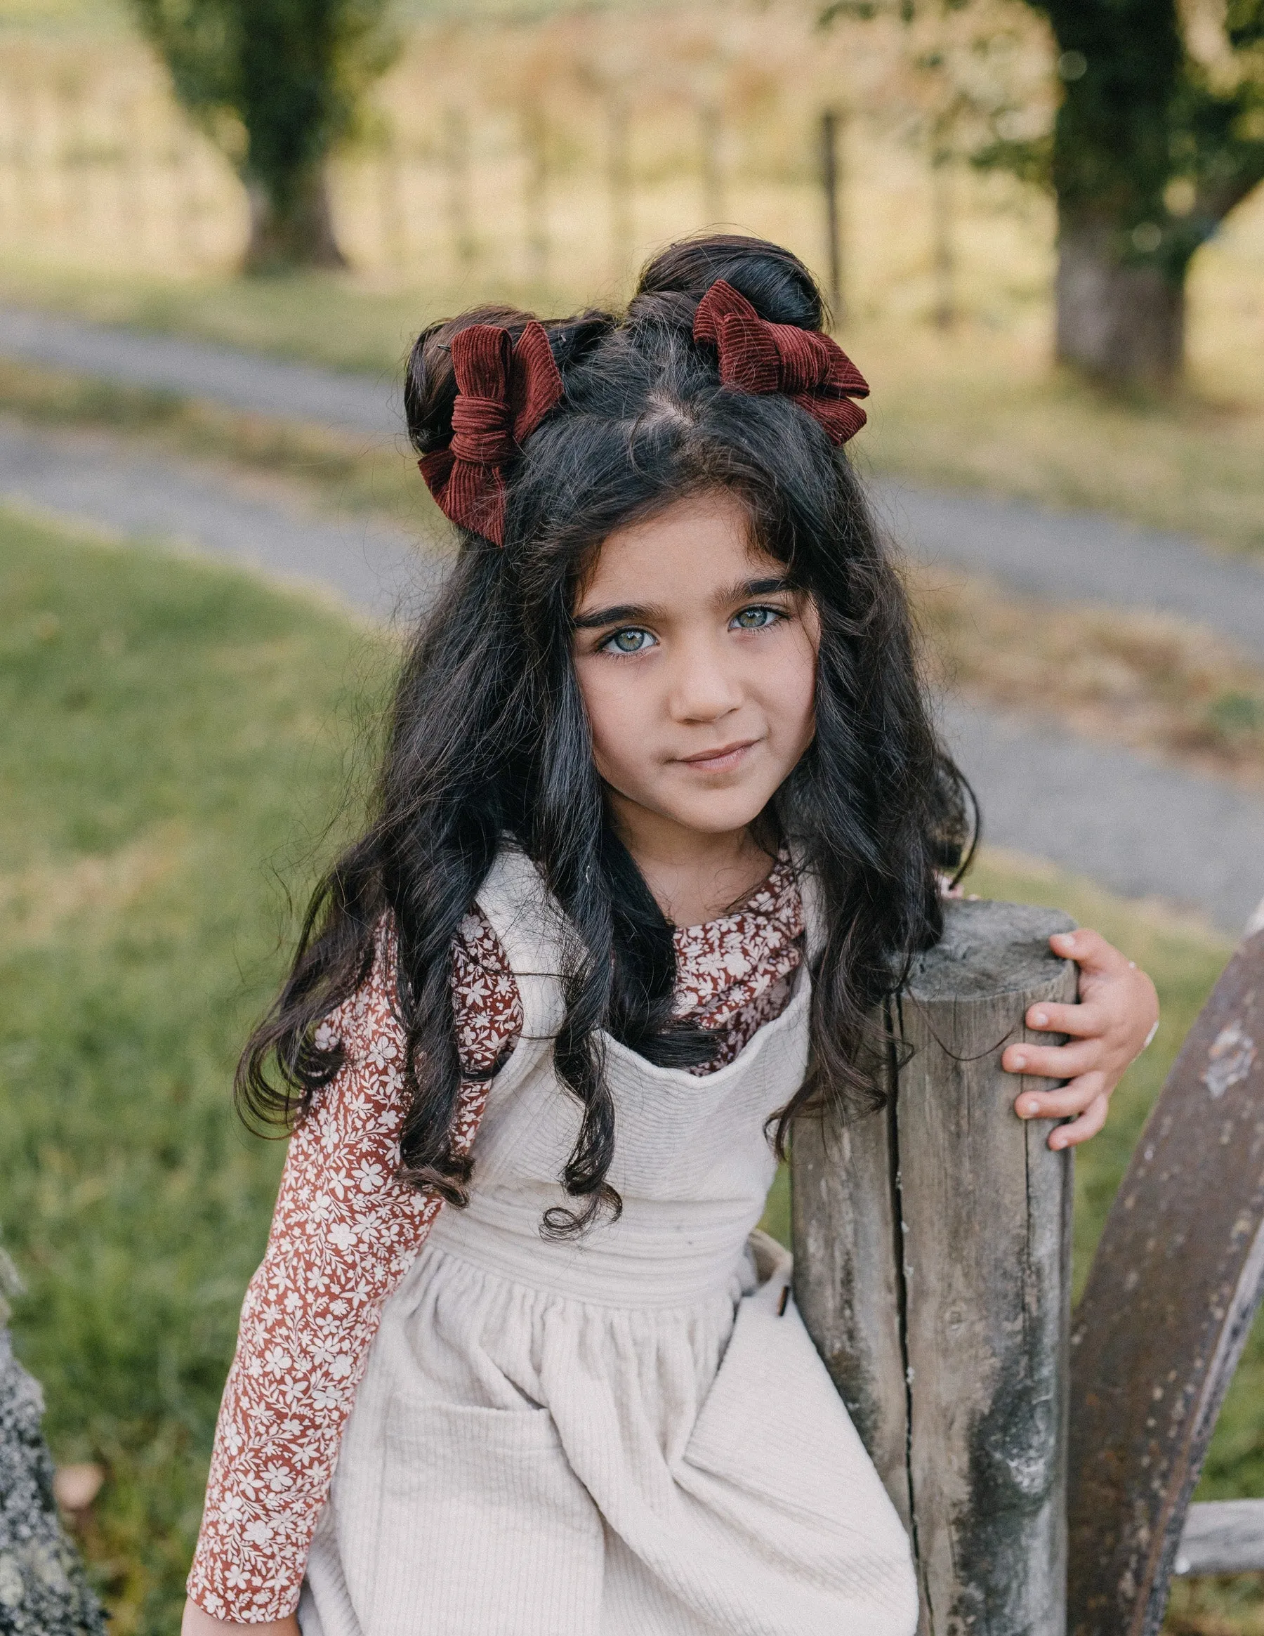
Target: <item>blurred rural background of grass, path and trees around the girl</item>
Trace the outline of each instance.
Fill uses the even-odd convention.
[[[116,1636],[178,1628],[283,1157],[232,1063],[446,550],[410,339],[701,227],[813,268],[968,885],[1164,1000],[1082,1276],[1264,893],[1262,180],[1259,0],[0,0],[0,1245]],[[1257,1335],[1202,1497],[1264,1497],[1262,1394]]]

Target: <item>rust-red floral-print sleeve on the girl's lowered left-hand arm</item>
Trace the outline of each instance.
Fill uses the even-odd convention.
[[[455,960],[455,988],[463,973],[466,955]],[[481,973],[479,995],[487,985]],[[522,1029],[512,975],[509,985],[494,1024],[486,1005],[476,1008],[477,1044],[492,1062]],[[343,1065],[291,1137],[268,1250],[242,1306],[188,1577],[186,1620],[201,1623],[186,1631],[294,1629],[288,1621],[383,1302],[440,1207],[394,1180],[407,1098],[392,993],[383,947],[365,988],[325,1024],[342,1039]],[[468,1045],[471,1006],[461,990],[455,998]],[[463,1062],[482,1067],[482,1055],[463,1049]],[[463,1085],[458,1152],[473,1144],[486,1096],[486,1081]]]

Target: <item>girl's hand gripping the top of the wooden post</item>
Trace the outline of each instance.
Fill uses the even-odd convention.
[[[1048,1001],[1027,1013],[1027,1027],[1069,1034],[1069,1045],[1009,1045],[1001,1067],[1066,1080],[1060,1091],[1024,1091],[1014,1104],[1020,1119],[1066,1119],[1048,1139],[1053,1148],[1087,1142],[1105,1124],[1110,1093],[1123,1070],[1150,1044],[1159,1021],[1159,996],[1145,972],[1096,931],[1061,931],[1050,947],[1079,967],[1079,1005]]]

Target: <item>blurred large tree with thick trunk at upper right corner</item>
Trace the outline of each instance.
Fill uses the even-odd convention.
[[[896,10],[948,21],[978,0],[837,0],[822,18]],[[1058,357],[1109,383],[1181,373],[1186,278],[1264,182],[1264,0],[1024,0],[1053,31],[1053,131],[1012,108],[973,154],[1053,188]]]

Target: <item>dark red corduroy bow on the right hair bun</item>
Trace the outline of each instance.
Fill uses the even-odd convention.
[[[842,347],[819,330],[760,317],[723,278],[698,303],[693,340],[719,353],[721,384],[783,393],[826,429],[831,443],[845,443],[865,424],[852,399],[868,398],[868,381]]]

